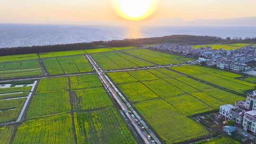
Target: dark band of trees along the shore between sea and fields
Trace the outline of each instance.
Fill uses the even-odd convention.
[[[172,36],[152,37],[152,38],[95,41],[91,43],[0,48],[0,56],[88,50],[88,49],[108,48],[108,47],[154,45],[157,43],[175,43],[175,44],[181,44],[181,45],[207,45],[207,44],[214,44],[214,43],[256,43],[256,38],[222,39],[216,36],[172,35]]]

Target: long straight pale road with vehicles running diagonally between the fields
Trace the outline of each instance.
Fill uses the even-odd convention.
[[[144,144],[151,144],[151,140],[147,139],[147,135],[149,135],[149,133],[147,131],[145,131],[145,130],[142,131],[141,127],[137,125],[137,122],[135,121],[135,118],[131,117],[131,115],[128,113],[127,110],[130,109],[130,107],[128,107],[122,101],[122,99],[120,99],[119,94],[117,93],[117,88],[113,85],[113,83],[110,81],[108,76],[102,71],[102,69],[99,67],[99,65],[91,58],[91,56],[90,55],[86,55],[86,57],[89,60],[89,62],[92,64],[92,66],[95,69],[95,71],[98,73],[98,75],[99,75],[101,81],[103,82],[103,84],[105,84],[105,86],[107,87],[107,89],[109,90],[109,92],[111,93],[113,98],[117,101],[119,107],[123,110],[125,116],[129,119],[129,121],[131,122],[133,127],[136,129],[137,134],[140,135],[140,137],[143,140]],[[151,136],[152,136],[152,138],[154,136],[153,139],[155,140],[155,142],[157,144],[161,144],[161,142],[158,140],[158,138],[155,135],[151,135]]]

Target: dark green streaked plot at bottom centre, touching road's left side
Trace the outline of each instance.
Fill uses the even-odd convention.
[[[138,144],[115,108],[75,113],[77,144]]]

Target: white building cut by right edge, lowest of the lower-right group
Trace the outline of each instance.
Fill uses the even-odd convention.
[[[243,129],[256,134],[256,110],[245,112]]]

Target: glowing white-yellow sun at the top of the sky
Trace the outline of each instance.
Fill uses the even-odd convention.
[[[148,18],[155,11],[155,0],[114,0],[117,13],[128,20]]]

